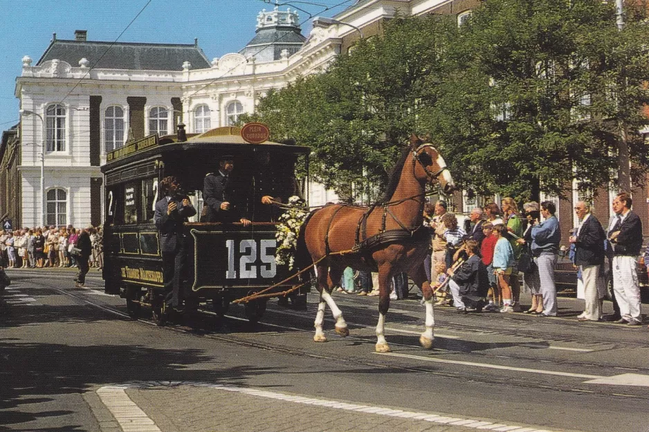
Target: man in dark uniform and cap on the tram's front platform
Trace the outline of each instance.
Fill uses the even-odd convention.
[[[231,203],[230,173],[235,168],[232,156],[221,156],[219,171],[208,173],[203,180],[203,212],[201,222],[241,222],[245,227],[250,220]]]

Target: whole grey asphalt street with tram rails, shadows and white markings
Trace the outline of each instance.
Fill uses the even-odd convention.
[[[313,342],[307,310],[232,306],[155,326],[93,274],[13,270],[0,311],[0,431],[649,431],[649,329],[393,301],[392,353],[374,352],[377,299],[336,294],[351,335]],[[610,304],[606,305],[610,310]],[[189,326],[191,323],[192,326]]]

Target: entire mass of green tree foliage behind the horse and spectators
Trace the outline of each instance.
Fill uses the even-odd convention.
[[[467,24],[397,17],[327,71],[269,93],[246,120],[313,149],[312,173],[345,198],[373,199],[410,133],[430,133],[456,182],[538,198],[616,173],[620,125],[634,167],[649,102],[646,6],[615,25],[613,2],[488,0]]]

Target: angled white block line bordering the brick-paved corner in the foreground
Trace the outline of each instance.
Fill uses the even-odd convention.
[[[507,424],[500,424],[500,423],[493,423],[493,422],[487,422],[483,420],[474,420],[474,419],[466,419],[466,418],[459,418],[459,417],[446,417],[444,415],[438,415],[438,414],[431,414],[431,413],[421,413],[417,411],[404,411],[401,409],[394,409],[394,408],[385,408],[383,406],[371,406],[371,405],[363,405],[363,404],[349,404],[347,402],[340,402],[340,401],[335,401],[335,400],[324,400],[324,399],[318,399],[315,397],[303,397],[303,396],[296,396],[296,395],[286,395],[284,393],[277,393],[274,391],[267,391],[267,390],[257,390],[256,388],[246,388],[246,387],[237,387],[237,386],[230,386],[230,385],[224,385],[224,384],[211,384],[208,382],[195,382],[195,381],[186,381],[186,382],[180,382],[180,381],[172,381],[172,382],[165,382],[165,381],[158,381],[158,382],[132,382],[132,383],[127,383],[127,384],[120,384],[117,386],[104,386],[100,388],[97,393],[104,402],[104,404],[107,406],[109,411],[115,416],[116,420],[120,423],[120,426],[125,432],[157,432],[160,431],[158,429],[158,426],[156,426],[153,421],[151,421],[151,424],[145,424],[143,423],[143,427],[149,427],[152,429],[134,429],[135,425],[131,425],[128,423],[122,424],[120,422],[120,419],[117,417],[115,413],[118,413],[120,415],[120,418],[124,421],[127,422],[131,419],[134,418],[142,418],[143,422],[145,422],[145,417],[146,414],[138,408],[138,406],[129,398],[129,396],[126,394],[125,389],[127,388],[152,388],[152,387],[161,387],[161,386],[170,386],[170,387],[176,387],[176,386],[195,386],[195,387],[207,387],[207,388],[214,388],[216,390],[221,390],[221,391],[230,391],[230,392],[237,392],[237,393],[242,393],[245,395],[250,395],[250,396],[255,396],[255,397],[265,397],[266,399],[273,399],[273,400],[282,400],[284,402],[292,402],[295,404],[304,404],[304,405],[314,405],[314,406],[323,406],[326,408],[332,408],[332,409],[340,409],[344,411],[356,411],[357,413],[368,413],[368,414],[373,414],[373,415],[384,415],[386,417],[402,417],[402,418],[407,418],[407,419],[412,419],[412,420],[423,420],[426,422],[434,422],[434,423],[440,423],[440,424],[449,424],[453,426],[464,426],[467,428],[473,428],[473,429],[484,429],[484,430],[493,430],[493,431],[511,431],[511,432],[551,432],[546,429],[536,429],[534,427],[529,427],[529,426],[514,426],[514,425],[507,425]],[[107,403],[108,402],[108,403]],[[111,404],[111,405],[109,405]],[[111,406],[113,407],[111,409]],[[114,411],[114,412],[113,412]],[[124,413],[127,412],[129,413],[128,415],[125,415]],[[141,415],[144,415],[145,417],[137,417],[138,412],[141,413]],[[149,417],[146,417],[146,419],[149,419]],[[150,420],[150,419],[149,419]],[[129,427],[127,429],[126,426]],[[155,429],[153,429],[155,428]]]

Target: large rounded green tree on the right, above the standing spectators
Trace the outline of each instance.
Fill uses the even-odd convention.
[[[646,7],[615,26],[601,0],[488,0],[448,44],[437,103],[423,114],[453,175],[478,194],[585,194],[619,168],[624,125],[636,173],[649,161]],[[643,176],[637,176],[641,179]],[[566,189],[568,186],[568,189]]]

